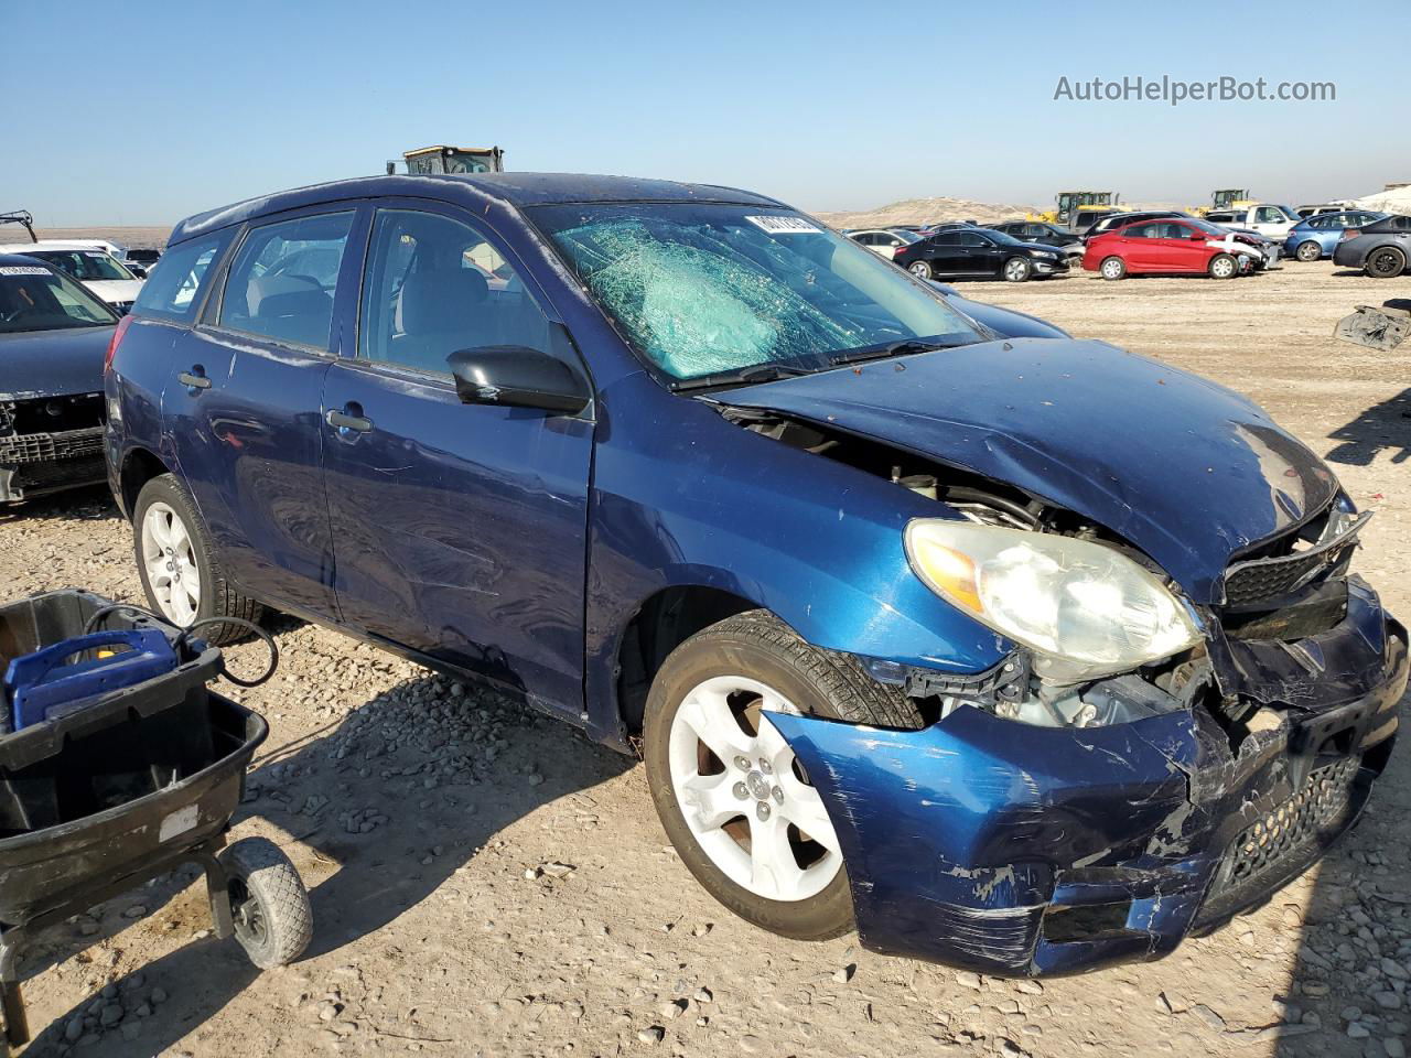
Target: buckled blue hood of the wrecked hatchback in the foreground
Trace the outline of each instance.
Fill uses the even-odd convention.
[[[1197,602],[1215,601],[1235,552],[1309,518],[1338,490],[1250,401],[1103,341],[988,341],[717,399],[1009,482],[1136,545]]]

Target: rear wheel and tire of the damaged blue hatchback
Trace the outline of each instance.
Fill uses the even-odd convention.
[[[158,528],[162,522],[168,532],[165,540]],[[171,561],[162,561],[159,554],[166,546],[171,547]],[[231,590],[190,492],[172,474],[159,474],[137,494],[133,505],[133,552],[148,605],[176,625],[223,616],[258,622],[264,615],[264,607]],[[168,571],[174,577],[164,584],[162,577]],[[196,583],[195,598],[192,576]],[[185,584],[178,584],[182,578],[186,578]],[[200,638],[217,646],[234,643],[248,635],[248,629],[238,625],[206,625],[200,629]]]

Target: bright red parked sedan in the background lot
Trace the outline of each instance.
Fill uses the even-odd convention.
[[[1108,231],[1088,243],[1082,267],[1101,272],[1103,279],[1126,275],[1209,275],[1230,279],[1254,265],[1253,247],[1235,236],[1195,217],[1143,220]]]

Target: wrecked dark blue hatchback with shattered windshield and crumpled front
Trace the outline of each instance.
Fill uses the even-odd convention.
[[[1010,322],[728,188],[308,188],[172,233],[111,487],[176,621],[289,611],[641,738],[765,928],[1153,958],[1352,824],[1405,632],[1259,408]]]

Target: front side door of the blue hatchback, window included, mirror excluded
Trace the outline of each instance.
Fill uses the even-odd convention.
[[[466,405],[446,363],[481,346],[576,358],[546,309],[471,217],[378,209],[323,466],[347,624],[576,717],[591,411]]]

